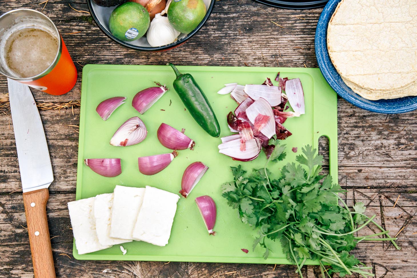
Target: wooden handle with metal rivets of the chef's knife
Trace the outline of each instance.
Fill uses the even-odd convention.
[[[23,193],[35,278],[55,278],[48,220],[46,218],[48,198],[48,188]]]

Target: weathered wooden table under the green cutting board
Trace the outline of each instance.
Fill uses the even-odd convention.
[[[79,101],[81,70],[88,63],[175,61],[184,65],[317,67],[314,32],[322,9],[284,10],[251,0],[218,0],[207,23],[188,42],[171,51],[150,53],[114,43],[88,13],[69,6],[86,11],[85,1],[50,0],[46,5],[38,4],[41,1],[2,0],[0,13],[15,8],[43,10],[58,25],[76,62],[78,82],[68,94],[50,96],[33,91],[35,100],[43,107],[48,103]],[[7,90],[6,79],[0,76],[0,95]],[[5,100],[4,96],[0,99]],[[8,103],[1,102],[0,106],[0,277],[33,277],[22,193],[17,191],[21,187],[13,122]],[[57,277],[297,276],[291,265],[75,260],[66,203],[75,200],[78,132],[69,125],[78,125],[79,113],[76,105],[73,109],[40,112],[55,176],[47,210]],[[390,230],[390,235],[399,233],[397,243],[402,247],[397,251],[391,243],[362,242],[354,253],[372,266],[376,278],[415,278],[417,112],[375,114],[339,99],[338,114],[339,183],[348,191],[347,202],[352,205],[362,201],[369,206],[369,213],[377,214],[377,221]],[[304,267],[303,273],[309,278],[320,276],[319,269],[311,266]]]

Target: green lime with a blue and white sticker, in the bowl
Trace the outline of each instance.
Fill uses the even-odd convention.
[[[148,30],[148,11],[135,2],[126,2],[119,5],[110,15],[108,25],[110,32],[119,40],[132,41],[145,35]]]

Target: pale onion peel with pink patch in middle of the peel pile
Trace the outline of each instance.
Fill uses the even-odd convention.
[[[280,96],[281,99],[281,96]],[[261,128],[261,124],[263,122],[256,121],[255,119],[259,116],[259,114],[263,116],[269,116],[268,122],[264,124]],[[259,98],[255,101],[251,106],[246,109],[246,115],[248,116],[249,121],[254,124],[255,129],[261,131],[266,137],[271,138],[275,134],[275,120],[274,120],[274,113],[272,112],[272,107],[269,105],[269,102],[266,101],[264,98]],[[265,119],[265,117],[262,117]],[[258,120],[260,117],[258,117]]]

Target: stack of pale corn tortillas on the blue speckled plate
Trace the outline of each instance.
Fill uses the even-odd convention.
[[[417,96],[417,0],[342,0],[327,48],[343,81],[365,99]]]

